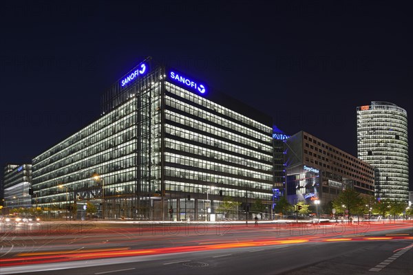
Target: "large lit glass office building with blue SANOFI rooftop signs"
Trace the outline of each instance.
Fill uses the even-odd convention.
[[[271,203],[268,115],[150,58],[102,111],[33,159],[33,203],[50,215],[81,219],[93,203],[104,218],[204,220],[225,215],[225,197]]]

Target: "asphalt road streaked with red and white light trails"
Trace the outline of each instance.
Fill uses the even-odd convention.
[[[138,228],[98,225],[93,234],[3,234],[2,259],[65,256],[90,250],[93,258],[1,267],[1,274],[413,274],[410,225],[232,228],[198,225]],[[183,229],[183,230],[182,230]],[[202,229],[204,231],[202,231]],[[313,230],[313,231],[311,231]],[[320,231],[321,230],[321,231]],[[56,233],[56,232],[55,232]],[[90,232],[89,232],[90,233]],[[196,233],[196,234],[195,234]],[[12,248],[12,249],[10,249]],[[145,252],[107,256],[100,250]],[[169,250],[165,250],[169,249]],[[173,250],[171,250],[173,249]],[[62,251],[64,250],[64,251]],[[55,254],[52,254],[54,252]],[[44,253],[44,254],[43,254]],[[66,254],[65,254],[66,253]],[[102,254],[100,254],[102,253]],[[43,256],[45,255],[45,256]],[[19,258],[20,257],[20,258]],[[39,256],[40,257],[40,256]],[[43,259],[43,258],[42,258]],[[80,260],[80,261],[76,261]],[[23,263],[23,262],[21,262]]]

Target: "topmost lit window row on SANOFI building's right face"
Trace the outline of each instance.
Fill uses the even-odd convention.
[[[221,113],[222,115],[226,115],[229,118],[233,118],[234,120],[238,120],[244,124],[253,126],[254,128],[260,129],[261,131],[264,131],[266,133],[272,134],[273,129],[271,127],[266,126],[260,122],[257,122],[255,120],[251,120],[251,118],[247,118],[245,115],[240,115],[240,113],[236,113],[235,111],[231,111],[228,108],[222,107],[219,104],[216,104],[212,102],[211,100],[207,100],[206,98],[202,98],[202,96],[198,96],[196,94],[191,93],[190,91],[187,91],[185,89],[182,89],[180,87],[177,87],[175,85],[172,85],[171,83],[166,83],[167,91],[170,91],[172,94],[176,94],[177,96],[180,96],[181,98],[185,98],[187,100],[190,100],[191,102],[194,102],[196,104],[199,104],[203,107],[207,107],[208,109],[212,109],[214,111],[217,111],[218,113]]]

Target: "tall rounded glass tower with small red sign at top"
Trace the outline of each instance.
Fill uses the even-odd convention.
[[[407,202],[409,155],[404,109],[383,101],[357,107],[357,155],[375,168],[377,198]]]

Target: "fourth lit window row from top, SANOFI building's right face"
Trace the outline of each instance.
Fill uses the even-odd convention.
[[[173,125],[165,125],[165,133],[169,133],[177,137],[182,137],[186,140],[191,140],[193,142],[198,142],[200,144],[214,146],[222,150],[231,151],[233,153],[237,153],[240,155],[246,155],[247,157],[252,157],[254,159],[260,159],[264,162],[272,162],[273,159],[271,155],[266,155],[264,153],[253,151],[251,149],[244,148],[242,146],[237,146],[229,142],[223,142],[222,140],[217,140],[213,137],[208,137],[206,135],[194,133],[192,131],[178,128]]]

